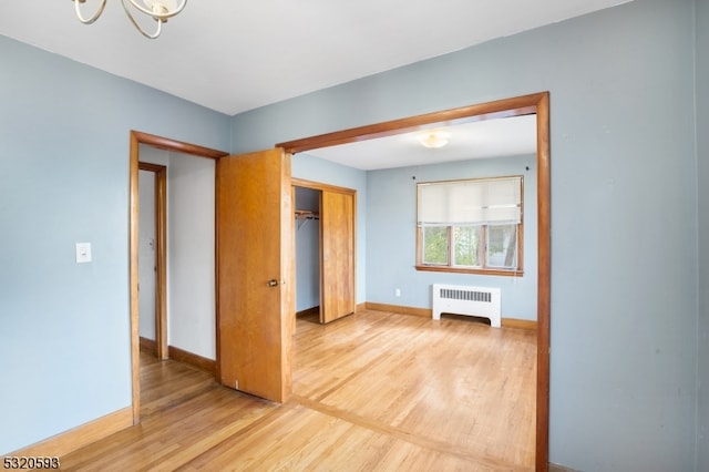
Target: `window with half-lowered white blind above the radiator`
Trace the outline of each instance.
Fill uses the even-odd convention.
[[[522,176],[417,184],[417,268],[522,274]]]

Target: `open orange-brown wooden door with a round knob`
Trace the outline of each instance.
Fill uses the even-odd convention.
[[[220,382],[268,400],[291,393],[292,198],[281,148],[216,166]]]

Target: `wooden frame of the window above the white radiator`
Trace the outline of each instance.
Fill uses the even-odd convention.
[[[448,261],[445,265],[443,264],[424,264],[423,263],[423,230],[425,226],[419,225],[419,185],[424,184],[461,184],[467,182],[480,182],[480,181],[490,181],[490,179],[510,179],[510,178],[520,178],[520,223],[517,224],[517,240],[516,240],[516,250],[517,250],[517,266],[516,268],[502,268],[502,267],[487,267],[486,258],[487,258],[487,228],[491,226],[490,224],[482,224],[481,227],[481,242],[482,248],[481,267],[471,267],[471,266],[456,266],[453,265],[455,259],[455,248],[453,240],[453,227],[458,226],[455,224],[443,225],[448,230]],[[417,233],[417,257],[415,257],[415,269],[422,271],[439,271],[439,273],[455,273],[455,274],[479,274],[479,275],[491,275],[491,276],[507,276],[507,277],[522,277],[524,275],[524,176],[523,175],[505,175],[505,176],[495,176],[495,177],[474,177],[474,178],[462,178],[454,181],[433,181],[433,182],[420,182],[415,185],[417,189],[417,222],[415,222],[415,233]]]

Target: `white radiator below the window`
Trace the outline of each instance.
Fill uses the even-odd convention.
[[[433,319],[441,314],[469,315],[490,318],[490,325],[500,328],[499,288],[466,287],[433,284]]]

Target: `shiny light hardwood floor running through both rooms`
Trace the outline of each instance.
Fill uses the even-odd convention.
[[[141,424],[62,470],[534,469],[534,332],[372,310],[316,319],[297,321],[288,403],[142,356]]]

